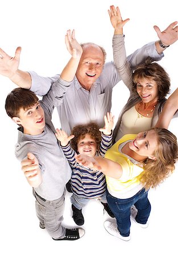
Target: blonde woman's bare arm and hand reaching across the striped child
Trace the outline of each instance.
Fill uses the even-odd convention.
[[[76,155],[77,163],[82,166],[88,167],[94,171],[100,170],[105,175],[113,177],[114,179],[119,179],[122,176],[122,167],[120,164],[115,163],[107,158],[102,158],[102,156],[94,156],[93,158],[88,155]]]

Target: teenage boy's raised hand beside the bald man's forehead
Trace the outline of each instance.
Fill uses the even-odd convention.
[[[72,30],[72,32],[71,30],[67,31],[67,35],[65,35],[65,44],[74,59],[81,57],[83,50],[75,38],[74,30]]]

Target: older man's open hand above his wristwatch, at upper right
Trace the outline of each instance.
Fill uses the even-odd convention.
[[[176,25],[177,22],[173,22],[162,32],[158,26],[154,26],[154,29],[164,46],[170,46],[178,40],[178,26]]]

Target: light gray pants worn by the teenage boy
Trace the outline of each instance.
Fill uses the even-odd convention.
[[[39,197],[33,189],[35,196],[36,215],[39,221],[45,225],[52,238],[64,238],[65,228],[61,225],[64,213],[65,191],[59,199],[48,201]]]

